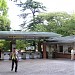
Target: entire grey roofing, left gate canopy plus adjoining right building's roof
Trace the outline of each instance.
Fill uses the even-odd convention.
[[[53,32],[0,31],[0,39],[45,39],[50,43],[73,43],[75,35],[62,37]]]

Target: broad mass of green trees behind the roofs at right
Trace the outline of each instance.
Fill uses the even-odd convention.
[[[44,21],[47,24],[44,24]],[[75,34],[75,17],[66,12],[43,13],[36,17],[35,31],[56,32],[64,36]]]

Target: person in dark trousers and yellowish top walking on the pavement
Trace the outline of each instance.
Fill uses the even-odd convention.
[[[18,67],[18,52],[16,51],[15,48],[13,48],[13,50],[12,50],[11,58],[12,58],[11,71],[13,71],[14,63],[15,63],[15,72],[17,72],[17,67]]]

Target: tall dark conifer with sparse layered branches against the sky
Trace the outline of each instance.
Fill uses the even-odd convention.
[[[20,4],[17,5],[22,7],[22,11],[25,12],[20,15],[24,19],[24,23],[21,26],[24,27],[25,25],[27,25],[25,19],[29,16],[29,14],[32,14],[33,20],[31,20],[30,23],[32,23],[33,25],[28,22],[28,29],[34,30],[36,13],[41,12],[41,10],[45,11],[46,7],[43,6],[42,3],[33,0],[27,0],[25,3],[20,2]],[[29,12],[27,13],[26,10],[28,10]]]

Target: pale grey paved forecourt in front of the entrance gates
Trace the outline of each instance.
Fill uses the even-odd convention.
[[[0,61],[0,75],[75,75],[75,60],[26,59],[19,61],[18,72],[11,70],[11,60]]]

